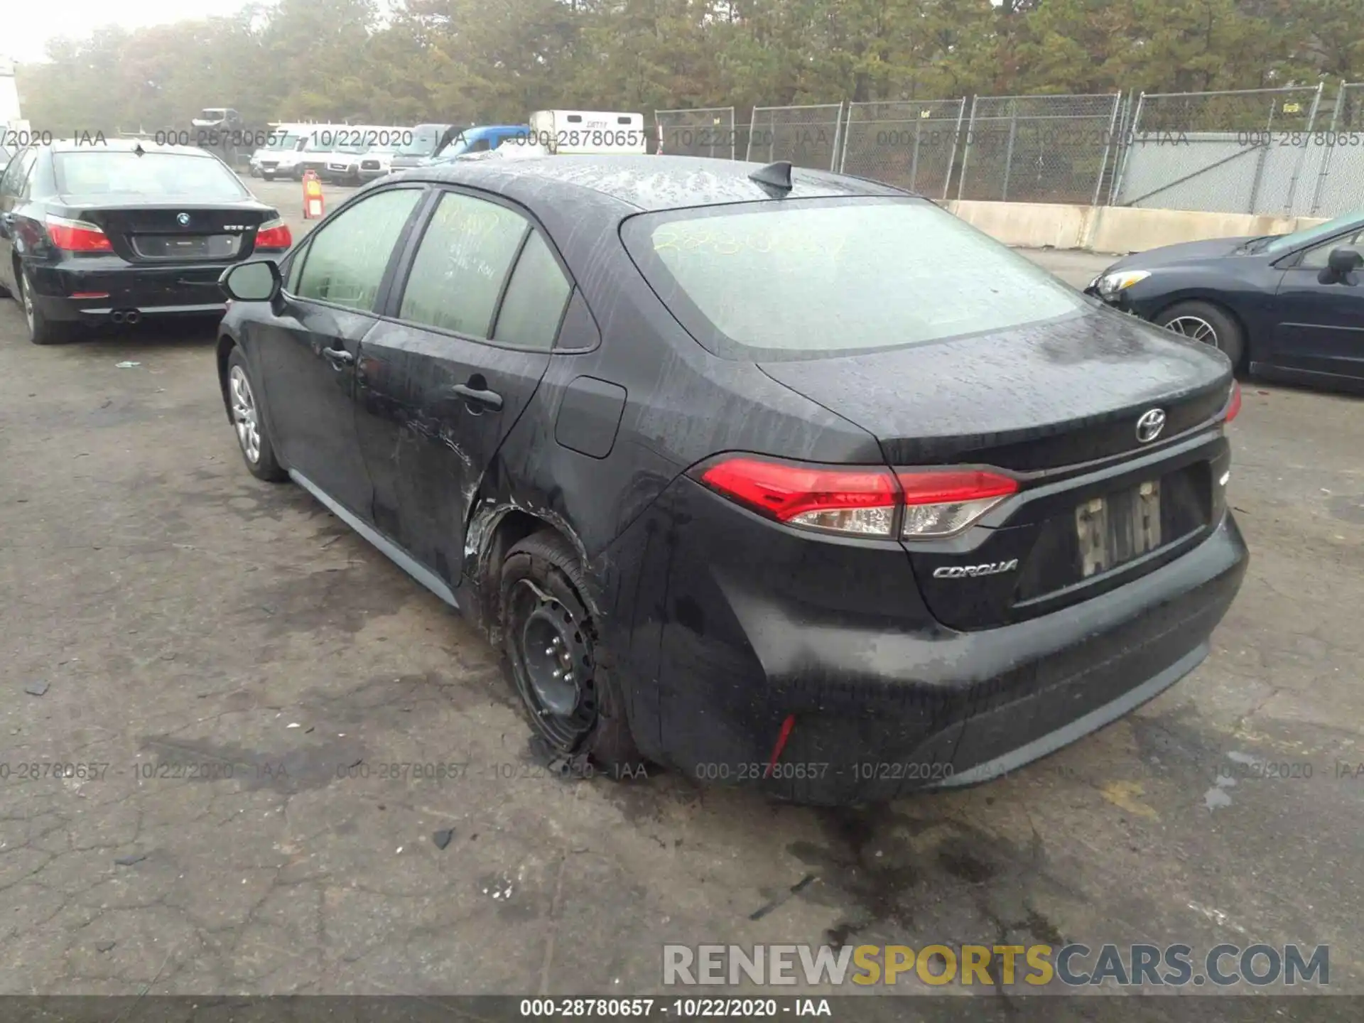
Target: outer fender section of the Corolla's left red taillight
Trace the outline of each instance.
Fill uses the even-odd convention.
[[[712,465],[701,480],[779,522],[889,536],[900,495],[885,469],[824,469],[756,458]]]

